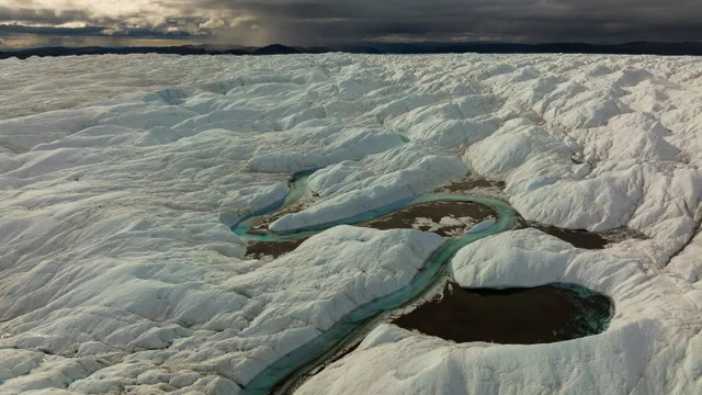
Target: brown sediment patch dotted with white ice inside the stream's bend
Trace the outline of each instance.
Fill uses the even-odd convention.
[[[435,201],[415,204],[371,219],[360,226],[381,230],[414,228],[435,233],[440,236],[455,236],[456,233],[463,233],[475,223],[495,216],[497,216],[497,213],[485,204],[462,201]],[[441,218],[444,217],[453,219],[461,218],[463,223],[440,226]],[[426,221],[424,224],[418,222],[419,218],[430,219],[433,226],[426,224]]]

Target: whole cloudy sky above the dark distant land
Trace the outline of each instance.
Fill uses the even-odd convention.
[[[702,41],[702,0],[0,0],[0,46]]]

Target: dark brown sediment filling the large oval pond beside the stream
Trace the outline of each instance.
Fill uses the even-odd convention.
[[[466,290],[448,283],[441,295],[393,323],[456,342],[534,345],[595,335],[588,318],[609,317],[611,301],[559,286]]]

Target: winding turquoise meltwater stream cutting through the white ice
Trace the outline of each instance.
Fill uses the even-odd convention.
[[[517,212],[510,205],[495,199],[453,194],[427,194],[419,198],[395,202],[363,214],[354,215],[349,218],[315,225],[313,227],[299,228],[285,233],[268,233],[263,235],[248,234],[249,229],[261,216],[269,215],[281,207],[295,203],[296,201],[308,195],[309,190],[307,188],[307,177],[312,174],[312,172],[313,171],[307,171],[295,174],[295,177],[293,178],[292,188],[285,199],[245,216],[239,221],[239,223],[231,227],[231,230],[237,236],[247,240],[294,240],[313,236],[337,225],[359,224],[382,215],[393,213],[407,206],[435,201],[461,201],[480,203],[491,207],[497,213],[497,219],[488,219],[489,222],[483,222],[474,227],[475,230],[468,230],[461,236],[446,239],[446,241],[444,241],[441,247],[439,247],[431,253],[431,256],[424,262],[423,268],[415,275],[415,278],[408,285],[356,307],[354,311],[342,316],[341,319],[339,319],[335,325],[320,334],[314,340],[298,347],[294,351],[283,356],[281,359],[270,364],[246,385],[246,394],[268,394],[271,388],[273,388],[282,380],[287,377],[291,373],[322,356],[327,350],[335,347],[335,345],[337,345],[339,341],[346,339],[355,329],[360,328],[361,325],[367,319],[383,312],[388,312],[401,307],[403,305],[412,302],[416,297],[421,295],[422,292],[440,276],[442,270],[445,269],[451,258],[461,248],[475,240],[498,234],[500,232],[509,230],[517,224]]]

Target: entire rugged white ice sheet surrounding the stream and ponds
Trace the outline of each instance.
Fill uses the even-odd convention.
[[[348,308],[405,284],[435,237],[338,227],[271,263],[242,258],[227,225],[313,168],[319,202],[273,230],[472,172],[505,181],[529,221],[650,239],[585,251],[519,230],[454,259],[466,286],[566,281],[609,294],[616,312],[599,336],[452,345],[384,325],[299,393],[702,388],[697,58],[139,55],[0,67],[0,393],[236,393]]]

